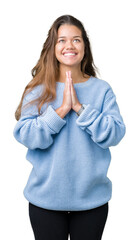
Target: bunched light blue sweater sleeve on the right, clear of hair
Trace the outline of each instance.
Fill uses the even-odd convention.
[[[76,123],[103,149],[117,145],[126,132],[116,96],[111,88],[104,97],[101,111],[88,104]]]

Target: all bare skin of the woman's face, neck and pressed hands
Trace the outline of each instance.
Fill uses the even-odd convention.
[[[64,56],[64,53],[74,52],[75,56]],[[63,102],[57,113],[65,116],[71,109],[75,112],[81,108],[74,83],[86,81],[81,72],[81,61],[84,57],[84,42],[79,28],[74,25],[64,24],[58,29],[58,39],[55,46],[55,55],[59,61],[59,82],[65,82]]]

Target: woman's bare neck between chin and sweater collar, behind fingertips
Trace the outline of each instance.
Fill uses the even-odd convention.
[[[72,77],[73,83],[80,82],[83,79],[83,73],[81,72],[80,68],[60,65],[59,79],[58,79],[59,82],[66,81],[66,71],[71,71],[71,77]]]

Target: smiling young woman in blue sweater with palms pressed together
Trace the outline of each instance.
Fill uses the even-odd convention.
[[[125,124],[78,19],[55,20],[32,76],[13,134],[33,166],[24,196],[35,239],[100,240],[112,193],[109,147]]]

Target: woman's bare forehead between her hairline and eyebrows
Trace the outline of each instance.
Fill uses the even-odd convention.
[[[74,36],[82,36],[81,30],[74,26],[69,24],[63,24],[58,29],[58,37],[74,37]]]

